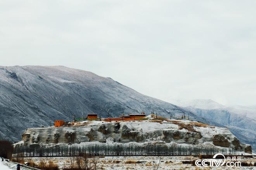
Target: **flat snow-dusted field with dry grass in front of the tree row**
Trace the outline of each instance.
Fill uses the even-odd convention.
[[[30,159],[30,158],[29,158]],[[54,161],[60,168],[68,167],[72,162],[71,157],[32,158],[36,163],[40,160]],[[184,161],[197,160],[193,156],[106,156],[97,162],[97,170],[256,170],[256,167],[195,167]],[[256,158],[242,158],[242,162],[255,162]],[[160,162],[160,163],[159,163]]]

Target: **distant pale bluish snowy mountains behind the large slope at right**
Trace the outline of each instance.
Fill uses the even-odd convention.
[[[254,106],[221,105],[209,99],[182,100],[169,102],[194,112],[199,117],[212,120],[230,128],[237,138],[256,148],[256,109]]]

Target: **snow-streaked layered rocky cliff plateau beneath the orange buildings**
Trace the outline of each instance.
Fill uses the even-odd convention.
[[[69,145],[100,143],[176,143],[187,145],[204,145],[233,148],[236,151],[251,153],[251,146],[240,141],[228,130],[199,124],[192,121],[130,121],[102,122],[85,121],[84,126],[67,126],[58,128],[31,128],[22,134],[26,145],[66,143]],[[185,125],[184,125],[185,124]],[[77,123],[76,123],[77,125]],[[181,128],[182,127],[182,128]],[[184,128],[189,127],[189,128]],[[190,131],[191,130],[191,131]]]

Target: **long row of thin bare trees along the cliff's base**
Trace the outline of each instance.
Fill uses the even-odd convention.
[[[236,155],[232,148],[213,148],[178,145],[127,145],[127,144],[95,144],[95,145],[29,145],[16,146],[14,156],[136,156],[136,155]]]

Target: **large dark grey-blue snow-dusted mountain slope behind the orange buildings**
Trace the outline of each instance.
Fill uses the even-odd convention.
[[[101,117],[130,112],[160,116],[189,114],[190,119],[220,126],[176,105],[142,95],[111,78],[64,66],[0,66],[0,137],[18,141],[31,127],[55,119],[94,112]]]

